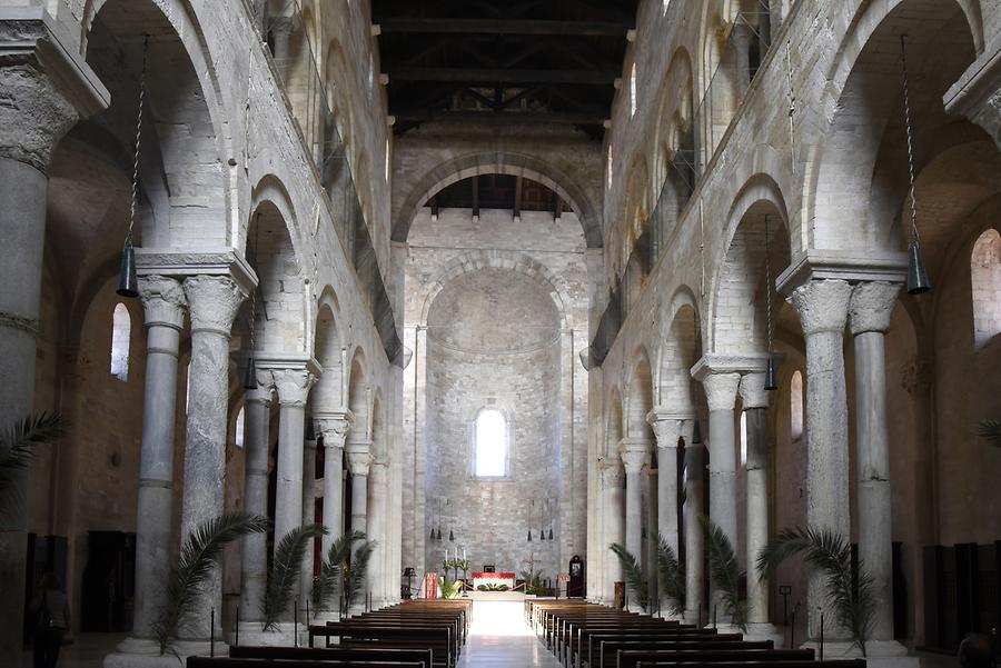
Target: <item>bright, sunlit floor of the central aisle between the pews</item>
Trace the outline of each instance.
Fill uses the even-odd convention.
[[[456,668],[559,668],[559,662],[525,624],[517,601],[473,602],[473,625]]]

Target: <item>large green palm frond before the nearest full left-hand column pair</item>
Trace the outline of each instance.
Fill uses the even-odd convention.
[[[267,518],[232,512],[206,520],[191,531],[181,547],[177,566],[167,578],[167,600],[152,625],[161,656],[167,652],[167,644],[176,637],[177,629],[191,612],[197,596],[212,574],[212,567],[222,556],[222,548],[241,536],[267,530]]]

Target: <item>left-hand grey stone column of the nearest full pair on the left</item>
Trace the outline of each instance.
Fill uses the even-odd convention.
[[[136,516],[136,607],[132,636],[152,638],[170,572],[174,509],[174,426],[177,420],[177,361],[187,300],[179,281],[139,279],[146,315],[146,387]]]

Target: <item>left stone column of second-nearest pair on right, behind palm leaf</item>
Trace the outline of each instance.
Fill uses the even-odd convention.
[[[733,409],[740,373],[714,373],[701,378],[710,409],[710,508],[708,516],[737,549],[736,450]]]

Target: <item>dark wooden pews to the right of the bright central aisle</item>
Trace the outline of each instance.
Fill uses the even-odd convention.
[[[526,599],[525,621],[566,668],[865,668],[862,659],[816,661],[812,649],[579,600]]]

